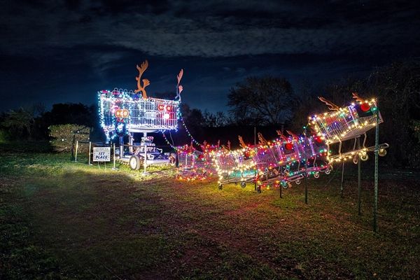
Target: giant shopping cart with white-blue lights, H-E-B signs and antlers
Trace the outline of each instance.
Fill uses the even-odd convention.
[[[167,100],[148,97],[146,87],[150,85],[148,79],[142,79],[144,71],[148,68],[147,60],[137,65],[139,76],[137,90],[101,90],[99,96],[99,115],[101,126],[106,137],[111,141],[115,137],[120,138],[119,160],[126,162],[132,169],[139,169],[139,165],[160,164],[173,161],[169,155],[157,155],[148,133],[164,130],[176,130],[178,128],[179,104],[181,103],[180,85],[183,70],[177,76],[176,85],[177,100]],[[134,133],[143,133],[140,144],[134,144]],[[129,136],[128,145],[124,145],[123,137]],[[125,149],[124,146],[128,146]],[[152,147],[153,146],[153,147]]]

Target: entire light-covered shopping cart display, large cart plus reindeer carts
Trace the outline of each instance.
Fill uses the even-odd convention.
[[[267,141],[258,134],[255,145],[245,144],[239,136],[241,149],[238,150],[231,150],[229,141],[228,146],[221,146],[220,141],[217,145],[200,144],[190,135],[190,145],[176,147],[167,140],[165,131],[177,130],[178,120],[183,122],[179,108],[183,70],[177,76],[175,100],[167,100],[147,96],[146,87],[150,82],[141,79],[147,67],[147,61],[137,66],[137,90],[98,92],[101,125],[106,137],[109,141],[118,137],[118,160],[132,169],[138,170],[141,165],[167,164],[177,158],[178,179],[204,180],[217,174],[220,189],[226,183],[239,183],[242,188],[246,183],[253,183],[260,193],[264,187],[288,188],[293,182],[300,184],[304,178],[330,174],[334,162],[351,159],[357,163],[359,159],[367,160],[367,153],[372,151],[386,155],[388,144],[365,146],[366,132],[383,123],[383,119],[374,99],[365,100],[356,93],[353,93],[354,103],[344,108],[319,97],[330,111],[309,117],[307,129],[301,135],[288,132],[286,136],[277,131],[278,139]],[[186,124],[183,125],[188,132]],[[162,153],[162,149],[153,144],[153,137],[147,136],[158,131],[176,154]],[[140,143],[134,143],[134,133],[144,134]],[[123,141],[126,134],[127,145]],[[356,146],[359,137],[363,137],[363,144]],[[350,151],[342,151],[345,141],[354,141]],[[331,152],[334,145],[338,145],[337,153]]]

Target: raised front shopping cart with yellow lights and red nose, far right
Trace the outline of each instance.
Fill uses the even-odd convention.
[[[353,98],[356,99],[356,102],[350,106],[339,108],[327,99],[319,97],[322,102],[329,106],[332,112],[309,117],[310,127],[313,128],[318,137],[325,140],[328,151],[330,151],[330,145],[339,144],[337,155],[328,155],[330,162],[353,158],[353,162],[357,163],[359,157],[361,160],[367,160],[367,152],[375,150],[374,146],[365,146],[366,132],[383,123],[384,120],[374,99],[362,99],[357,93],[353,93]],[[363,145],[356,147],[356,140],[362,135],[364,137]],[[342,153],[342,142],[351,139],[355,140],[353,149]],[[388,144],[379,144],[379,155],[386,155],[385,149],[388,147]]]

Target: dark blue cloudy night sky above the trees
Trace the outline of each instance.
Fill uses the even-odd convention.
[[[0,111],[134,90],[225,111],[246,76],[326,83],[420,55],[416,1],[0,1]],[[175,93],[174,93],[175,96]]]

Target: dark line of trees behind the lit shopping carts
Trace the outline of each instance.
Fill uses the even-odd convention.
[[[302,82],[294,88],[286,78],[248,77],[228,92],[228,112],[202,111],[185,103],[181,104],[181,112],[190,134],[197,140],[216,141],[219,137],[235,143],[237,134],[250,135],[253,126],[259,130],[267,128],[267,133],[275,133],[281,127],[300,133],[308,116],[328,111],[318,96],[346,106],[351,102],[351,92],[377,99],[384,118],[380,139],[391,145],[387,162],[420,167],[419,59],[394,62],[364,78],[348,77],[325,85]],[[48,127],[69,123],[92,127],[91,137],[103,138],[97,105],[54,104],[45,111],[45,106],[36,104],[1,113],[0,141],[48,140]],[[183,144],[188,141],[188,133],[183,131],[183,125],[179,127],[179,132],[171,136],[177,144]]]

